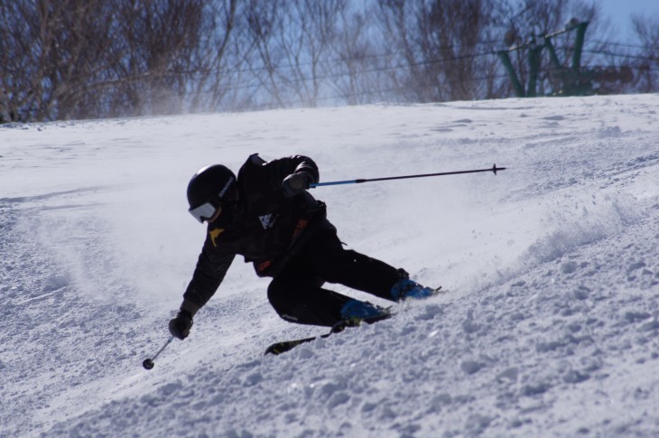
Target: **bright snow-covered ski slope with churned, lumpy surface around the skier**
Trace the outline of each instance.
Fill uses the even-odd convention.
[[[0,436],[657,436],[656,95],[0,127]],[[450,292],[324,332],[237,260],[167,340],[198,168],[308,154],[339,237]],[[374,297],[336,290],[381,303]],[[385,304],[384,302],[381,304]]]

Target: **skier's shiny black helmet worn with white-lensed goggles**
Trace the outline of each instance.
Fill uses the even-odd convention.
[[[222,164],[204,167],[188,183],[190,214],[203,222],[212,218],[219,207],[236,202],[236,175]]]

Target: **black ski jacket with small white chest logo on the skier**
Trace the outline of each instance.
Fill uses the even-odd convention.
[[[218,290],[235,256],[252,262],[259,276],[275,276],[320,228],[332,228],[325,204],[307,191],[286,197],[283,179],[308,172],[319,181],[316,163],[302,155],[265,162],[251,155],[237,175],[238,201],[209,224],[206,241],[182,307],[193,314]]]

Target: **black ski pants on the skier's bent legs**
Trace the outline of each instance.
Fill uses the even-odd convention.
[[[353,298],[323,284],[344,284],[393,301],[391,288],[401,276],[393,266],[344,249],[336,228],[323,228],[274,277],[268,300],[286,321],[331,327],[341,321],[341,308]]]

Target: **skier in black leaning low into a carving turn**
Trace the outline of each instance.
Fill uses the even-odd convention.
[[[286,321],[333,327],[385,318],[389,311],[324,289],[344,284],[393,302],[425,298],[433,290],[410,280],[404,269],[342,247],[325,204],[307,191],[319,181],[311,158],[294,155],[265,162],[251,155],[238,175],[216,164],[188,184],[190,214],[208,233],[183,302],[169,323],[178,339],[218,290],[235,256],[254,263],[256,275],[272,277],[267,296]]]

